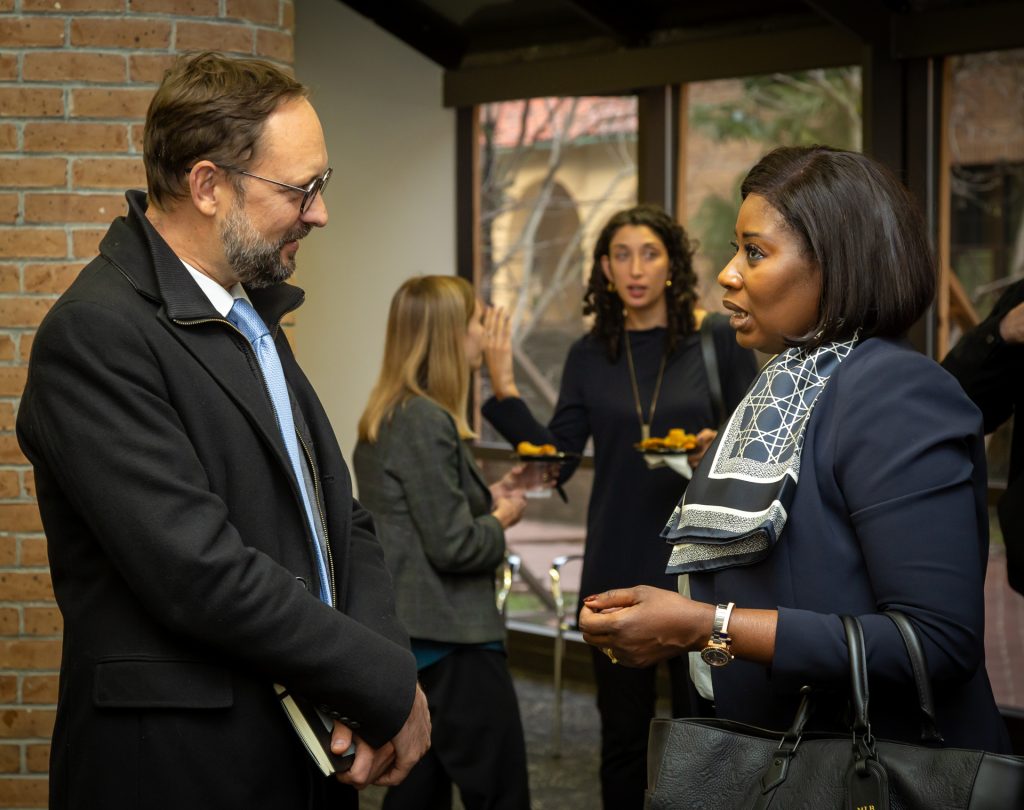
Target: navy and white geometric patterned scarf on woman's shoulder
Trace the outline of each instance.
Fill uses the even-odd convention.
[[[776,355],[708,451],[662,537],[668,573],[763,560],[778,542],[800,478],[807,422],[857,337]]]

